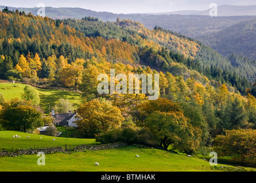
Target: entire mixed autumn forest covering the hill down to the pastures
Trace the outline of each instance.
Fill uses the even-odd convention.
[[[228,60],[161,27],[149,30],[119,18],[54,20],[4,9],[0,55],[1,79],[82,93],[77,133],[83,138],[160,145],[191,154],[205,146],[218,149],[231,138],[228,134],[253,136],[250,130],[256,129],[256,86],[241,74],[247,67],[235,67],[235,56]],[[110,75],[110,69],[126,75],[159,74],[160,98],[98,94],[97,77]],[[2,99],[0,105],[1,129],[20,128],[9,124],[10,113],[27,109],[40,116],[33,103]],[[250,151],[255,144],[246,145],[249,150],[239,161],[255,165]],[[223,150],[223,155],[228,153]]]

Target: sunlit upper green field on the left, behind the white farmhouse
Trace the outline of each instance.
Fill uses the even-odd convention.
[[[0,83],[0,93],[6,100],[15,97],[21,99],[25,86],[25,84],[21,83]],[[49,107],[50,109],[53,108],[55,102],[60,98],[68,99],[75,107],[78,107],[82,102],[79,93],[55,89],[36,88],[36,90],[40,96],[40,106],[45,110],[45,113],[49,113]]]

